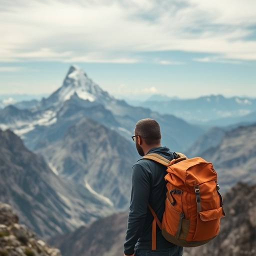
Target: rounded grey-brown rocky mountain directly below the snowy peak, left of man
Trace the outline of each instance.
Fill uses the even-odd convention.
[[[90,187],[110,200],[115,208],[126,209],[130,200],[131,167],[138,159],[132,142],[92,119],[82,118],[63,138],[38,152],[60,176]]]

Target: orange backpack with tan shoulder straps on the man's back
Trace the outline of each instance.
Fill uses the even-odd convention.
[[[179,158],[169,161],[157,153],[143,158],[167,167],[167,193],[162,222],[148,204],[154,220],[152,223],[152,249],[156,249],[156,223],[164,238],[184,247],[207,243],[219,231],[220,218],[225,216],[223,200],[218,191],[217,174],[212,163],[201,157]]]

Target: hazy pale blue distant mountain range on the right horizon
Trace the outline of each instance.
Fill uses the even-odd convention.
[[[160,114],[173,114],[190,123],[207,126],[227,126],[256,122],[256,98],[206,95],[198,98],[168,98],[153,95],[134,105],[148,107]]]

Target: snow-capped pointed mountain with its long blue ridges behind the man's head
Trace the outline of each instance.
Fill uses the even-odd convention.
[[[60,88],[47,98],[31,104],[8,105],[0,110],[0,128],[9,128],[21,136],[29,149],[62,137],[70,125],[82,117],[91,118],[126,139],[133,134],[137,120],[156,119],[161,125],[162,143],[184,150],[204,132],[173,115],[161,115],[149,108],[134,107],[103,91],[78,66],[71,66]],[[24,111],[26,111],[24,116]]]

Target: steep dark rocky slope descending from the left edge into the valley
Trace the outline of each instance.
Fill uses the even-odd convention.
[[[91,223],[114,209],[84,186],[54,174],[12,131],[0,130],[0,201],[40,237]]]

